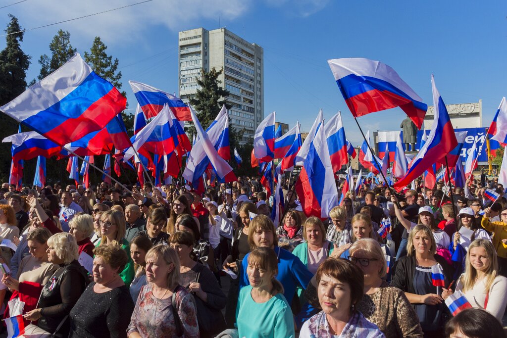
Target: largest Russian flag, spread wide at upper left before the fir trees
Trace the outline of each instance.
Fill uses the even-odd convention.
[[[0,110],[63,145],[104,128],[126,102],[77,53]]]

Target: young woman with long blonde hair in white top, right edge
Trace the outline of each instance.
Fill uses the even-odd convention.
[[[500,322],[507,305],[507,278],[498,275],[496,250],[491,241],[478,239],[468,247],[465,273],[456,284],[456,291],[463,292],[468,303],[484,309]],[[443,289],[446,299],[453,291]]]

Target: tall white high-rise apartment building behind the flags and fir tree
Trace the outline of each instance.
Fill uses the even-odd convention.
[[[223,68],[219,80],[231,93],[227,99],[232,105],[229,127],[244,128],[242,141],[251,142],[264,120],[263,48],[225,28],[180,31],[178,38],[179,97],[188,101],[196,93],[201,68]]]

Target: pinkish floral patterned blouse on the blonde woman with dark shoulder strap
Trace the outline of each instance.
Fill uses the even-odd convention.
[[[149,283],[141,288],[130,318],[127,334],[138,332],[141,337],[199,337],[197,312],[193,296],[178,286],[172,296],[158,299],[152,293],[153,287]],[[176,297],[176,308],[183,326],[183,335],[176,334],[174,313],[172,312],[172,297]]]

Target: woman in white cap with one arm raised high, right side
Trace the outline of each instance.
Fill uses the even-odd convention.
[[[407,218],[405,218],[397,205],[398,200],[394,195],[391,196],[391,202],[394,204],[394,214],[396,218],[400,221],[400,224],[407,229],[407,233],[410,234],[410,231],[417,226],[418,224],[422,224],[423,226],[431,229],[431,233],[433,234],[433,238],[435,239],[435,243],[437,244],[437,250],[444,249],[448,250],[449,244],[451,244],[451,240],[449,235],[447,235],[443,230],[437,227],[437,221],[435,220],[435,216],[433,215],[433,210],[430,207],[424,206],[419,208],[419,222],[418,224],[411,222]]]

